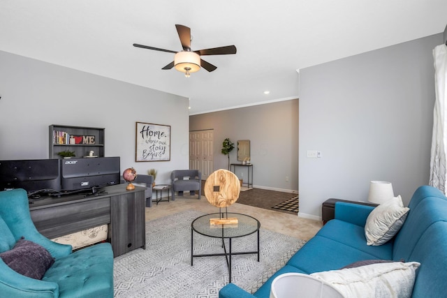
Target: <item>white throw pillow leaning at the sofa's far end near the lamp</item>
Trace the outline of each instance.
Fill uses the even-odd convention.
[[[382,245],[393,238],[402,228],[408,211],[400,195],[374,208],[365,224],[367,245]]]

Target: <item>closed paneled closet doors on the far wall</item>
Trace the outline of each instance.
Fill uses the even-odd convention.
[[[213,170],[213,134],[212,129],[189,132],[189,168],[202,172],[203,180]]]

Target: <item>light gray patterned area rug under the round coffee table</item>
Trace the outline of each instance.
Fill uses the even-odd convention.
[[[191,266],[191,222],[200,211],[188,210],[146,222],[146,249],[115,258],[115,297],[219,297],[228,283],[223,256],[194,258]],[[255,292],[283,267],[305,241],[261,228],[260,262],[256,255],[232,258],[233,283]],[[256,233],[233,239],[233,251],[256,250]],[[242,249],[243,248],[243,249]],[[194,233],[194,253],[221,253],[221,241]]]

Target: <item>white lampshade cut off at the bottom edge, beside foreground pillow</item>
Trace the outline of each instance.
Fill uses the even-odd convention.
[[[332,285],[307,274],[286,273],[274,278],[270,298],[342,298]]]

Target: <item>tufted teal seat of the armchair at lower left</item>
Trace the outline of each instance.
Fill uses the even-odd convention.
[[[102,243],[57,258],[42,281],[57,283],[61,297],[113,297],[111,272],[113,252],[109,243]]]

